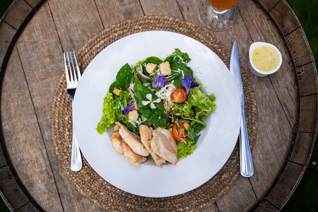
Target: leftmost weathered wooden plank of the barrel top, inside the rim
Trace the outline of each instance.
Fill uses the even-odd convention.
[[[7,64],[2,91],[14,89],[17,89],[15,95],[10,92],[1,95],[5,102],[1,104],[1,110],[12,112],[2,117],[2,130],[7,135],[5,144],[10,160],[16,164],[17,174],[23,176],[21,182],[35,201],[47,211],[60,210],[59,194],[16,47]],[[16,109],[17,105],[20,105],[19,110]]]

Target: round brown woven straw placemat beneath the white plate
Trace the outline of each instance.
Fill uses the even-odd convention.
[[[76,53],[80,70],[84,71],[100,51],[116,40],[130,34],[151,30],[172,31],[194,38],[214,51],[229,67],[230,52],[207,31],[172,17],[145,16],[115,24],[90,39]],[[242,67],[241,70],[245,114],[252,149],[257,129],[256,102]],[[96,124],[97,122],[98,120]],[[107,211],[200,211],[221,198],[240,176],[238,142],[224,167],[215,176],[192,191],[172,197],[149,198],[122,191],[101,178],[84,157],[83,168],[79,172],[71,171],[72,111],[71,99],[66,90],[65,72],[54,92],[51,130],[56,154],[70,181],[86,198]]]

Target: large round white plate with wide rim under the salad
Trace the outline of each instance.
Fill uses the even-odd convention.
[[[134,65],[150,56],[166,58],[174,48],[187,52],[188,66],[200,67],[195,74],[207,94],[216,95],[216,111],[210,114],[197,148],[176,165],[156,166],[151,156],[139,166],[118,154],[111,143],[113,127],[108,133],[96,132],[102,116],[103,98],[116,74],[125,63]],[[198,71],[197,70],[197,71]],[[240,128],[239,93],[223,61],[197,40],[168,31],[140,32],[110,44],[87,66],[76,89],[73,124],[79,147],[93,169],[106,181],[129,193],[147,197],[183,194],[213,177],[230,157]]]

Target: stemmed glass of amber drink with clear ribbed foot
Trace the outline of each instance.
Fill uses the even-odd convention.
[[[227,30],[239,17],[240,0],[202,0],[198,7],[201,23],[213,31]]]

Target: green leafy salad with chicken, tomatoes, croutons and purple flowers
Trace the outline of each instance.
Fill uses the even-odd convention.
[[[102,134],[115,125],[113,147],[129,162],[138,165],[146,160],[139,158],[147,156],[143,147],[155,162],[156,154],[170,162],[171,152],[181,159],[197,147],[206,126],[202,117],[215,111],[216,98],[213,93],[204,93],[187,66],[190,60],[187,53],[175,49],[163,60],[151,56],[133,66],[126,63],[118,71],[104,98],[103,116],[96,130]],[[138,142],[143,146],[139,147]],[[175,159],[172,161],[175,164]]]

